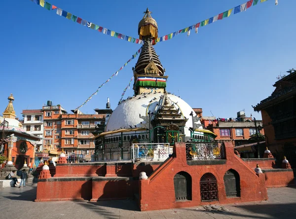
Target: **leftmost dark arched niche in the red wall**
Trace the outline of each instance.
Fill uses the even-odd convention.
[[[174,176],[174,187],[176,201],[192,200],[192,179],[191,176],[181,171]]]

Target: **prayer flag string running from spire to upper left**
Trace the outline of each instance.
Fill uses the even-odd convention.
[[[63,16],[63,17],[66,17],[67,19],[69,20],[72,20],[74,22],[77,22],[78,24],[81,24],[83,26],[86,26],[90,29],[93,29],[93,30],[96,30],[96,31],[99,31],[100,33],[103,33],[103,34],[106,34],[106,35],[110,35],[111,37],[115,37],[115,38],[119,38],[119,39],[123,39],[125,41],[129,41],[129,42],[133,42],[133,43],[137,43],[137,44],[144,44],[144,41],[142,39],[137,39],[137,38],[133,38],[133,37],[129,37],[129,36],[126,36],[126,35],[123,35],[123,34],[119,34],[115,31],[111,31],[107,28],[103,28],[99,25],[96,25],[94,23],[91,23],[91,22],[88,22],[80,17],[77,17],[45,0],[31,0],[33,1],[34,3],[40,5],[41,7],[44,7],[46,8],[47,10],[50,11],[51,10],[54,10],[54,9],[57,9],[57,15],[60,15],[60,16]],[[102,32],[103,30],[103,32]]]

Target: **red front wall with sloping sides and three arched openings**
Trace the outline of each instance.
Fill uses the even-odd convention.
[[[182,208],[208,204],[201,202],[200,178],[212,173],[217,179],[219,203],[261,201],[267,199],[264,174],[256,175],[240,158],[233,153],[233,145],[225,143],[227,162],[223,165],[192,165],[186,163],[185,144],[177,143],[175,156],[167,160],[148,180],[139,181],[139,199],[141,211]],[[226,198],[223,177],[227,170],[233,169],[240,176],[241,197]],[[176,201],[174,176],[185,171],[192,178],[192,200]],[[151,195],[153,194],[153,195]],[[215,202],[211,202],[212,204]]]

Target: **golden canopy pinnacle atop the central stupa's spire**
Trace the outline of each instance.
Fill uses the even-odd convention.
[[[140,39],[156,39],[158,37],[158,27],[156,21],[151,17],[149,9],[144,12],[145,15],[138,26]]]

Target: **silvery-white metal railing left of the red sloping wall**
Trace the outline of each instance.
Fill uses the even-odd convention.
[[[132,161],[164,161],[173,153],[169,143],[132,144]]]

